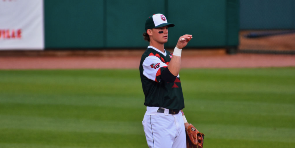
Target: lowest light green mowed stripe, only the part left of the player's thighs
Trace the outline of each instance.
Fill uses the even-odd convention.
[[[100,121],[71,118],[4,115],[0,115],[0,118],[0,129],[97,132],[126,135],[142,135],[143,129],[141,122],[138,121]]]

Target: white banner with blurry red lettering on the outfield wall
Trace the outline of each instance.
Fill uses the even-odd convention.
[[[43,50],[43,0],[0,0],[0,50]]]

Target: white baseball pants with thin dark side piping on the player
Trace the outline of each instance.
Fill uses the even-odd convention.
[[[158,107],[147,107],[142,121],[150,148],[186,148],[182,113],[171,115],[169,110],[157,113]]]

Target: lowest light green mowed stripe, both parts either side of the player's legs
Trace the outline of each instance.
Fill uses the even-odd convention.
[[[95,121],[83,119],[42,118],[24,116],[0,116],[0,130],[41,130],[58,132],[94,132],[104,134],[142,135],[140,122]],[[216,123],[204,124],[192,122],[206,131],[208,138],[244,139],[273,141],[273,137],[280,142],[294,142],[294,128],[255,127]],[[241,134],[243,133],[243,134]],[[207,136],[206,136],[207,137]],[[295,142],[294,142],[295,143]]]

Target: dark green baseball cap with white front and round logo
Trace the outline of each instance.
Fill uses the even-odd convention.
[[[145,31],[152,28],[159,28],[159,27],[173,27],[174,24],[168,23],[166,17],[163,14],[154,14],[145,21]]]

